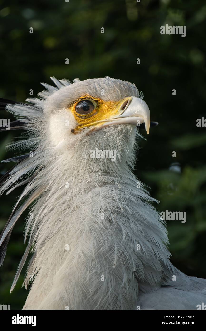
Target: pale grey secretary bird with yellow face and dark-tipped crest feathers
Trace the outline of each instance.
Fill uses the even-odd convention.
[[[28,154],[4,160],[16,164],[0,190],[27,184],[1,234],[0,264],[31,205],[11,292],[31,251],[23,309],[197,309],[206,280],[171,264],[157,201],[132,172],[139,127],[150,126],[142,94],[110,77],[51,79],[56,87],[42,83],[46,90],[27,103],[1,99],[17,118],[11,129],[28,132],[12,144]]]

